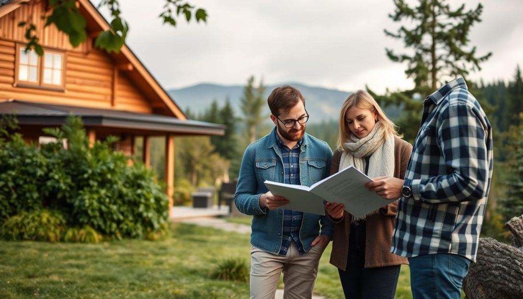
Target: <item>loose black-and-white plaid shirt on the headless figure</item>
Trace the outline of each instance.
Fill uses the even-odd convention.
[[[476,259],[493,167],[492,128],[463,78],[425,99],[391,252]]]

